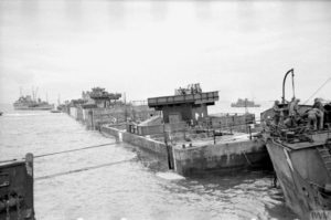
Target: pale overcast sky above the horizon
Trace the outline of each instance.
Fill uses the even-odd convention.
[[[331,77],[328,1],[0,0],[0,103],[102,86],[128,101],[200,83],[221,101],[306,101]],[[287,97],[291,96],[290,81]],[[316,96],[330,98],[331,82]]]

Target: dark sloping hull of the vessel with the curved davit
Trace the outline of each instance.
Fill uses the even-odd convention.
[[[309,179],[328,180],[325,167],[318,160],[318,150],[312,147],[305,150],[291,150],[280,143],[267,142],[274,169],[282,189],[286,205],[300,219],[310,219],[311,211],[330,211],[330,195],[321,193],[323,186]],[[319,172],[316,172],[319,170]],[[314,176],[314,178],[311,178]]]

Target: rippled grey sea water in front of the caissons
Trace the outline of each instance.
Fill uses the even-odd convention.
[[[3,107],[2,107],[3,109]],[[0,160],[115,142],[66,114],[13,112],[0,117]],[[164,163],[126,144],[35,158],[35,178],[108,163],[98,169],[35,180],[38,219],[293,219],[266,172],[169,180]]]

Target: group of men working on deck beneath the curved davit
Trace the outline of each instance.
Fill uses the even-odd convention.
[[[274,123],[275,125],[279,125],[280,121],[286,127],[295,127],[298,125],[298,122],[302,116],[308,116],[307,127],[317,129],[323,129],[323,121],[324,121],[324,106],[319,98],[314,98],[313,105],[310,109],[308,109],[303,115],[300,115],[298,98],[292,98],[291,102],[287,103],[287,106],[279,107],[279,101],[275,101],[274,104]],[[288,116],[285,117],[285,108],[288,108]]]

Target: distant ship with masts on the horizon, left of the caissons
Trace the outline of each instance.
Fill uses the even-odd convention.
[[[50,111],[54,108],[54,105],[41,98],[32,98],[30,95],[26,95],[15,101],[13,107],[15,111]]]

